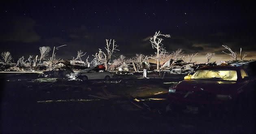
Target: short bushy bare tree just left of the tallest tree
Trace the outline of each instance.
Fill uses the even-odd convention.
[[[134,63],[137,66],[137,69],[142,69],[143,68],[143,63],[147,65],[148,68],[150,68],[150,64],[148,62],[148,56],[145,56],[143,54],[136,54],[135,57],[132,58]]]

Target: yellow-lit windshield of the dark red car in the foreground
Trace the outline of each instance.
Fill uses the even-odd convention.
[[[235,70],[198,70],[191,76],[191,79],[236,81],[237,74]]]

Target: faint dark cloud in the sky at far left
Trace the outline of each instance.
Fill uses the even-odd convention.
[[[10,22],[1,22],[0,24],[1,42],[22,42],[33,43],[40,41],[40,36],[35,31],[35,21],[29,17],[18,17],[11,19]]]

